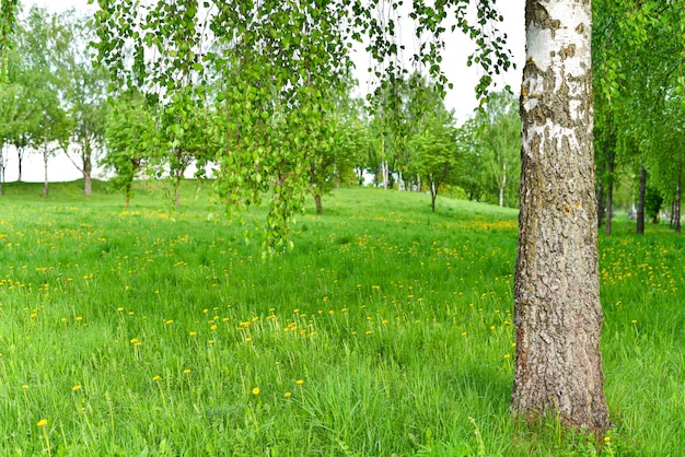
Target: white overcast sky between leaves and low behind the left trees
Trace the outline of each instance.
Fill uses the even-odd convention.
[[[95,9],[94,5],[88,4],[88,0],[24,0],[23,3],[25,9],[37,4],[53,12],[61,12],[70,8],[74,8],[79,11]],[[499,0],[498,2],[498,8],[504,16],[502,30],[507,33],[509,48],[513,51],[513,60],[516,63],[516,69],[512,69],[503,75],[496,75],[494,80],[500,89],[509,84],[514,92],[518,91],[521,85],[521,72],[525,59],[524,5],[524,0]],[[407,48],[405,51],[407,57],[414,54],[413,40],[410,38],[411,33],[413,26],[410,26],[409,31],[404,31],[404,34],[407,36],[406,40],[409,42],[403,43]],[[478,82],[480,72],[475,66],[471,68],[466,66],[466,59],[472,51],[473,45],[469,40],[463,37],[458,32],[455,32],[454,38],[448,40],[448,49],[443,55],[443,70],[450,82],[454,84],[454,89],[448,92],[445,102],[449,108],[455,110],[460,121],[464,121],[468,118],[477,106],[474,87]],[[355,57],[355,61],[357,63],[356,77],[360,81],[361,91],[367,92],[370,89],[365,80],[368,75],[367,68],[369,67],[369,57],[365,56],[365,54],[358,54],[358,56]],[[13,160],[11,154],[7,159],[9,161],[7,163],[5,180],[12,181],[16,179],[16,160]],[[38,154],[32,154],[28,155],[24,162],[23,180],[42,181],[42,157]],[[63,154],[50,159],[49,169],[50,180],[71,180],[81,177],[78,169]]]

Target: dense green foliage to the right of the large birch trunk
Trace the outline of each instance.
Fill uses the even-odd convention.
[[[605,186],[645,166],[651,186],[678,198],[684,11],[680,0],[593,2],[595,157]]]

